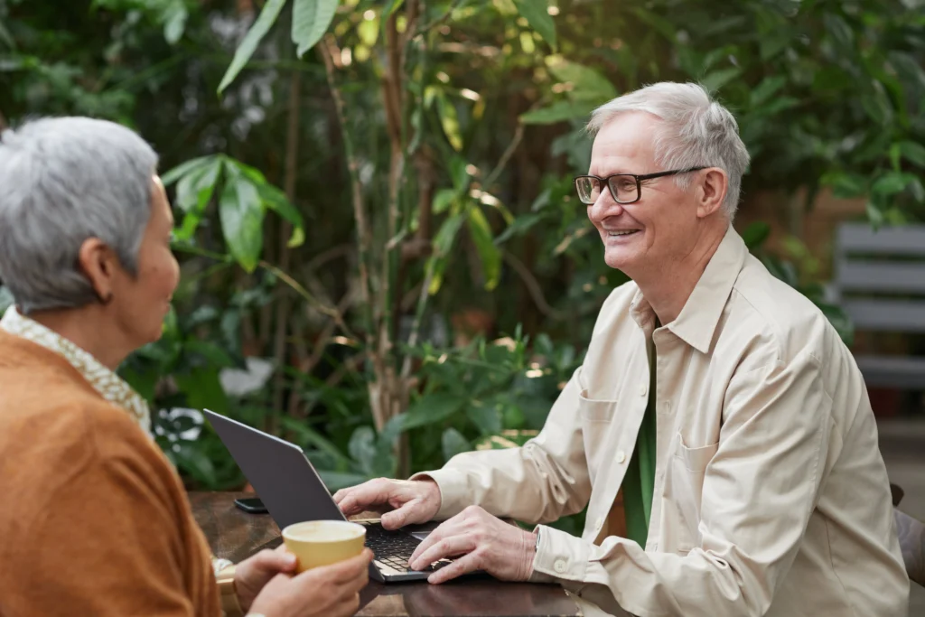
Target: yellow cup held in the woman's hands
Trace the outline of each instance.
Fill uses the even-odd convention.
[[[299,572],[356,557],[365,541],[366,528],[347,521],[306,521],[283,529],[283,542],[299,559]]]

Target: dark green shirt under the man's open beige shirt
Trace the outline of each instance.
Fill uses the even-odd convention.
[[[658,320],[656,327],[659,327]],[[639,426],[633,456],[623,477],[623,512],[626,516],[626,537],[643,549],[648,539],[648,520],[652,513],[652,492],[655,489],[655,344],[648,339],[648,404]]]

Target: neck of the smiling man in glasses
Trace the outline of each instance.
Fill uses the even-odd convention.
[[[660,265],[657,271],[643,272],[638,278],[633,278],[662,326],[667,326],[681,315],[709,260],[720,247],[727,228],[718,226],[705,231],[683,258],[668,267]]]

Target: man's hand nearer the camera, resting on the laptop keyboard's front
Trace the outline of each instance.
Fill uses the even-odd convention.
[[[475,570],[502,581],[525,581],[533,574],[535,556],[536,534],[470,506],[431,532],[409,565],[423,570],[434,561],[459,557],[427,578],[434,585]]]

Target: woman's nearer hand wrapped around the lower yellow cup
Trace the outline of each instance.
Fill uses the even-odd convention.
[[[261,590],[250,611],[266,617],[350,617],[360,608],[360,590],[369,582],[373,552],[290,576],[277,574]]]

